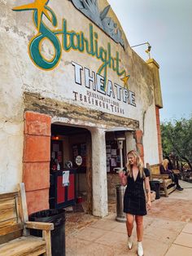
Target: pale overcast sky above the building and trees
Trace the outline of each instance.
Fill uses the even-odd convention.
[[[160,66],[161,121],[192,115],[192,0],[108,0],[129,45],[150,42]],[[133,48],[147,60],[146,46]]]

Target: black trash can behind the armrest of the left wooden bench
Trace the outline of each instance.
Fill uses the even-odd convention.
[[[54,223],[54,230],[50,232],[52,256],[65,256],[65,210],[41,210],[28,216],[29,221],[40,223]],[[40,230],[30,230],[33,236],[42,236]]]

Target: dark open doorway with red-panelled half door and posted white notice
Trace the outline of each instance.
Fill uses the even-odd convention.
[[[91,211],[91,135],[89,130],[51,125],[50,208],[82,205]]]

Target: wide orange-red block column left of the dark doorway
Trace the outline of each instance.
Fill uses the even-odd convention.
[[[23,182],[28,214],[49,209],[51,117],[24,114]]]

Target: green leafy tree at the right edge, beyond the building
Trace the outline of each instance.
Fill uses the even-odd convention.
[[[186,161],[192,170],[192,116],[190,119],[164,121],[161,124],[164,156],[176,152],[181,161]]]

